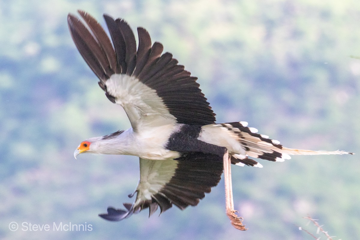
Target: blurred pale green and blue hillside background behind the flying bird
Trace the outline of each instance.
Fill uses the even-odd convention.
[[[248,121],[289,148],[360,154],[360,1],[0,0],[1,239],[312,239],[297,227],[316,234],[307,214],[334,239],[359,239],[359,155],[233,166],[245,232],[225,215],[223,181],[184,211],[99,218],[132,202],[139,166],[73,158],[82,140],[130,126],[72,42],[67,14],[77,9],[102,25],[108,13],[145,27],[199,78],[217,122]],[[54,222],[92,230],[53,231]]]

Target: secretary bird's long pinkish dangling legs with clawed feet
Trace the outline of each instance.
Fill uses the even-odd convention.
[[[224,154],[224,181],[225,181],[225,207],[226,215],[229,217],[231,225],[238,230],[247,230],[243,225],[243,218],[237,216],[237,210],[234,209],[233,186],[231,184],[231,158],[228,150]]]

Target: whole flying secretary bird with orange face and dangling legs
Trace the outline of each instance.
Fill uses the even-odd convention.
[[[216,186],[224,171],[226,215],[231,224],[246,230],[234,209],[231,164],[262,167],[254,158],[273,162],[290,155],[352,154],[346,151],[311,151],[285,148],[279,141],[258,134],[247,122],[215,123],[215,114],[199,89],[197,78],[179,65],[163,45],[152,44],[138,27],[139,44],[123,19],[104,14],[111,40],[98,21],[79,10],[82,20],[68,15],[71,36],[107,98],[121,105],[131,127],[92,137],[77,147],[81,153],[123,154],[140,158],[140,180],[125,209],[108,207],[100,217],[120,221],[149,208],[151,216],[175,204],[195,206]]]

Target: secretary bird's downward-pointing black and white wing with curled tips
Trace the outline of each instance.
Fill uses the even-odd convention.
[[[140,181],[133,204],[124,203],[126,210],[108,208],[99,216],[120,221],[149,208],[151,216],[160,206],[161,213],[175,204],[180,209],[195,206],[216,186],[222,173],[222,159],[217,155],[190,153],[176,160],[140,158]],[[132,196],[132,195],[129,195]]]

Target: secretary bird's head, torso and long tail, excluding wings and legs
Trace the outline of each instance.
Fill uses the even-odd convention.
[[[131,127],[125,131],[87,139],[78,149],[81,149],[85,143],[89,145],[87,146],[89,149],[85,150],[86,153],[133,155],[148,160],[169,160],[179,158],[181,153],[188,152],[216,154],[222,157],[226,148],[234,164],[253,167],[262,167],[262,165],[248,157],[283,162],[291,158],[289,155],[347,154],[345,151],[284,148],[279,141],[257,134],[257,129],[247,127],[247,124],[247,122],[235,122],[196,126],[173,123],[143,128],[143,131],[134,131]],[[75,158],[85,152],[78,149],[74,152]]]

